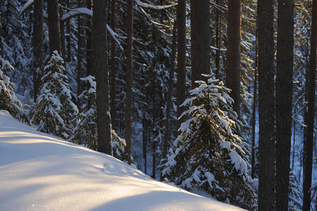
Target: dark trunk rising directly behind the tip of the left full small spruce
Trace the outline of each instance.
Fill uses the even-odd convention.
[[[60,17],[58,11],[58,0],[47,1],[47,13],[50,54],[52,54],[53,51],[58,51],[58,54],[60,54]]]

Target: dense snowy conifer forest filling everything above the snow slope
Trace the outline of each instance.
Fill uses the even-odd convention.
[[[0,108],[226,203],[313,209],[316,5],[0,0]]]

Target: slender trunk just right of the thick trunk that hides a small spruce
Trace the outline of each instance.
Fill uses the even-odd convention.
[[[111,29],[115,32],[115,5],[116,0],[111,1]],[[112,128],[115,129],[116,127],[116,117],[117,117],[117,105],[116,105],[116,71],[115,71],[115,39],[111,37],[111,70],[110,70],[110,77],[111,77],[111,87],[110,87],[110,110],[111,110],[111,121],[112,121]]]

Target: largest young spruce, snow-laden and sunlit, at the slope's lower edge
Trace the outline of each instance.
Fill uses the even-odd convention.
[[[230,90],[214,79],[198,84],[181,105],[189,108],[181,115],[185,122],[162,175],[189,191],[197,187],[217,200],[253,209],[257,200],[243,141],[234,134],[238,120]]]

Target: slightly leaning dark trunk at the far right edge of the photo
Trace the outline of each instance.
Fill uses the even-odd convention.
[[[313,0],[311,15],[311,53],[309,56],[309,98],[307,131],[304,142],[304,200],[303,210],[309,211],[311,206],[311,174],[313,168],[313,123],[315,119],[316,90],[316,45],[317,45],[317,1]]]

